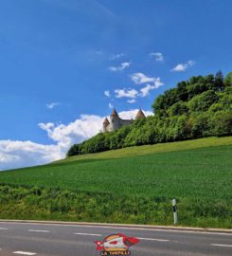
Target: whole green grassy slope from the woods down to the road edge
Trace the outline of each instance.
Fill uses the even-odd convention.
[[[232,137],[73,156],[1,172],[0,184],[2,218],[171,224],[176,197],[180,225],[231,228]]]

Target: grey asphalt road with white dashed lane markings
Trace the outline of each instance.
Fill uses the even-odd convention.
[[[134,256],[232,255],[232,234],[0,222],[0,255],[97,256],[94,241],[124,233],[140,239]]]

